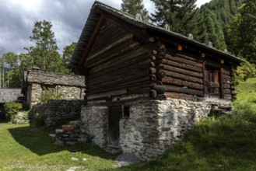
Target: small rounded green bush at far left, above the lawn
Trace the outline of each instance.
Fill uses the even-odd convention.
[[[7,119],[11,122],[14,121],[16,114],[23,109],[23,105],[21,103],[9,102],[5,103],[5,115]]]

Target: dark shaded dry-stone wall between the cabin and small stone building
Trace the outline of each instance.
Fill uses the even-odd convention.
[[[33,115],[44,118],[44,124],[47,126],[57,124],[61,120],[79,117],[81,106],[84,103],[82,99],[65,100],[54,99],[47,103],[38,103],[33,106]]]

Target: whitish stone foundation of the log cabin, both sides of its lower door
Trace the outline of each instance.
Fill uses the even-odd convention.
[[[127,104],[126,104],[127,105]],[[192,127],[209,117],[211,111],[230,110],[230,102],[190,102],[180,99],[133,102],[130,116],[120,120],[120,145],[123,152],[140,159],[156,159],[184,138]],[[107,106],[83,107],[82,127],[100,147],[107,145]]]

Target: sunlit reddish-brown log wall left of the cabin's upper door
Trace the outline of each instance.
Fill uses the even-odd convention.
[[[154,81],[150,95],[153,98],[198,100],[203,96],[202,61],[184,54],[174,54],[160,47],[153,51]]]

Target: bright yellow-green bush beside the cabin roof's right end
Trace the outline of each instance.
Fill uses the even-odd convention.
[[[238,85],[239,82],[245,82],[247,79],[251,78],[256,74],[256,68],[254,64],[250,62],[245,62],[241,64],[240,68],[238,68],[234,73],[234,83]]]

